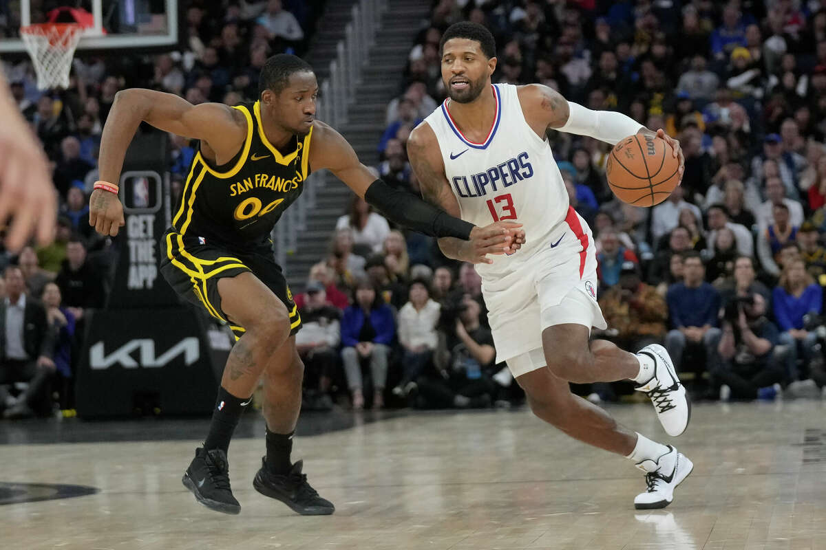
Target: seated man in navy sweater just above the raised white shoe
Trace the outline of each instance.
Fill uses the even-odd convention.
[[[706,283],[705,267],[697,251],[686,251],[683,259],[683,282],[672,284],[666,294],[672,330],[666,335],[666,348],[679,372],[686,347],[708,352],[719,343],[717,314],[720,295]]]

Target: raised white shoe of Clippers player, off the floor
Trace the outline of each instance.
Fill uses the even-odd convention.
[[[634,389],[651,399],[657,418],[668,435],[681,435],[691,419],[691,402],[686,395],[686,387],[677,378],[671,357],[659,344],[645,346],[637,355],[646,355],[654,361],[654,375]]]

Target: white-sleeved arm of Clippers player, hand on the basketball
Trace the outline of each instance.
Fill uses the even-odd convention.
[[[683,157],[680,142],[665,133],[662,128],[656,131],[646,128],[634,119],[614,110],[591,110],[566,101],[553,88],[542,84],[529,84],[520,87],[520,100],[528,106],[525,119],[529,120],[534,130],[557,129],[568,134],[586,135],[611,145],[634,134],[657,135],[672,147],[674,157],[680,159],[680,178],[686,159]],[[525,107],[523,107],[525,109]]]

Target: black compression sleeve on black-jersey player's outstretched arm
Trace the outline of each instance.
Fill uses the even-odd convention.
[[[476,227],[463,219],[453,218],[412,193],[393,189],[382,180],[370,184],[364,200],[393,223],[430,237],[456,237],[469,241],[470,232]]]

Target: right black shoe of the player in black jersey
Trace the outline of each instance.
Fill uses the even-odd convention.
[[[307,483],[306,473],[301,473],[304,461],[299,460],[292,465],[286,475],[278,475],[267,469],[267,462],[261,459],[262,465],[255,474],[253,487],[263,496],[269,496],[292,508],[301,515],[330,515],[335,512],[332,502],[321,498],[318,492]]]

